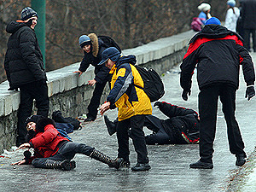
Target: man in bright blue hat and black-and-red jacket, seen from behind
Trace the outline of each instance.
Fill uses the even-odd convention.
[[[236,90],[239,84],[239,65],[242,66],[247,83],[246,98],[255,96],[255,73],[253,61],[243,47],[241,37],[220,26],[220,21],[212,17],[206,26],[189,42],[189,49],[181,64],[180,83],[183,100],[188,100],[191,92],[191,78],[197,64],[199,93],[200,157],[190,168],[212,169],[213,141],[216,131],[218,96],[223,104],[224,119],[228,128],[231,154],[236,155],[236,166],[246,162],[244,143],[236,122]]]

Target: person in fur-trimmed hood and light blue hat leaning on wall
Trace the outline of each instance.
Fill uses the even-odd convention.
[[[74,73],[79,73],[80,76],[87,70],[90,64],[95,67],[94,73],[96,76],[94,79],[88,81],[88,84],[90,86],[96,85],[96,87],[88,105],[88,113],[86,114],[87,118],[84,119],[85,122],[90,122],[96,119],[98,112],[97,108],[101,102],[102,92],[107,82],[112,78],[112,75],[109,74],[110,70],[108,67],[104,65],[97,65],[102,61],[102,52],[108,48],[108,45],[104,44],[102,38],[97,37],[95,33],[90,33],[88,36],[80,36],[79,45],[84,51],[84,58],[80,63],[79,70]]]

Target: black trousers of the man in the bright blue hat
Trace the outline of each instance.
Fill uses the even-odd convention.
[[[228,129],[231,154],[245,154],[239,126],[236,122],[236,88],[228,85],[212,85],[199,93],[200,156],[201,161],[212,163],[213,141],[216,132],[218,96]]]

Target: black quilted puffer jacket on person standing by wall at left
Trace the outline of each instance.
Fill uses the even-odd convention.
[[[12,34],[4,60],[10,90],[35,81],[46,81],[43,55],[34,30],[23,22],[13,20],[7,25],[6,32]]]

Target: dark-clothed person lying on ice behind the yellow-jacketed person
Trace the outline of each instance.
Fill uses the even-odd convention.
[[[154,115],[146,116],[144,126],[153,131],[145,137],[148,145],[199,143],[200,120],[195,110],[167,102],[155,102],[154,107],[159,108],[168,119],[159,119]],[[112,122],[107,115],[104,115],[104,120],[108,134],[113,135],[116,132],[117,120]]]

